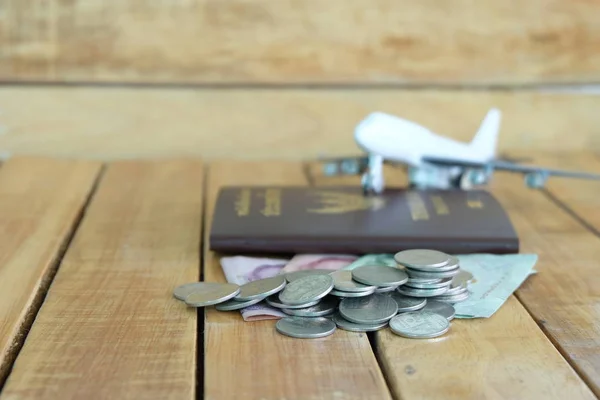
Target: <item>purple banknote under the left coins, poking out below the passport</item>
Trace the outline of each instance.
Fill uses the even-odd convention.
[[[231,256],[222,257],[220,261],[227,282],[243,285],[257,279],[270,278],[279,274],[289,262],[289,259]],[[243,308],[240,311],[244,321],[279,319],[286,316],[286,314],[269,306],[264,301]]]

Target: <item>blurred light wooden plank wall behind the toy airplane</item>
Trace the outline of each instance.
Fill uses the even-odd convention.
[[[600,3],[3,0],[0,157],[309,158],[372,111],[600,149]]]

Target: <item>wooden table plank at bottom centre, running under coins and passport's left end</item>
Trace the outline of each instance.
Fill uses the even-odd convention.
[[[211,165],[208,182],[210,218],[224,185],[302,185],[306,180],[299,163],[221,162]],[[205,281],[225,281],[219,257],[205,251]],[[274,325],[272,320],[244,322],[237,312],[206,311],[207,399],[390,399],[365,334],[338,330],[301,340],[277,333]]]

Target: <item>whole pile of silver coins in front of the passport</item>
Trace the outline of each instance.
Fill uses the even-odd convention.
[[[408,338],[446,333],[455,314],[451,304],[469,295],[470,278],[461,274],[458,259],[439,251],[406,250],[395,260],[397,268],[305,270],[242,286],[190,283],[177,287],[174,296],[189,306],[214,305],[220,311],[265,301],[289,315],[275,328],[295,338],[324,337],[337,328],[370,332],[386,326]]]

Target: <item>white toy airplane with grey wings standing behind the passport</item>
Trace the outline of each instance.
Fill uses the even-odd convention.
[[[414,122],[384,113],[370,114],[354,133],[367,155],[325,160],[325,175],[362,175],[367,194],[384,190],[383,164],[408,167],[410,184],[417,188],[464,190],[486,184],[495,170],[525,175],[531,188],[542,188],[550,176],[600,180],[600,175],[519,165],[496,158],[500,111],[491,109],[470,143],[431,132]]]

